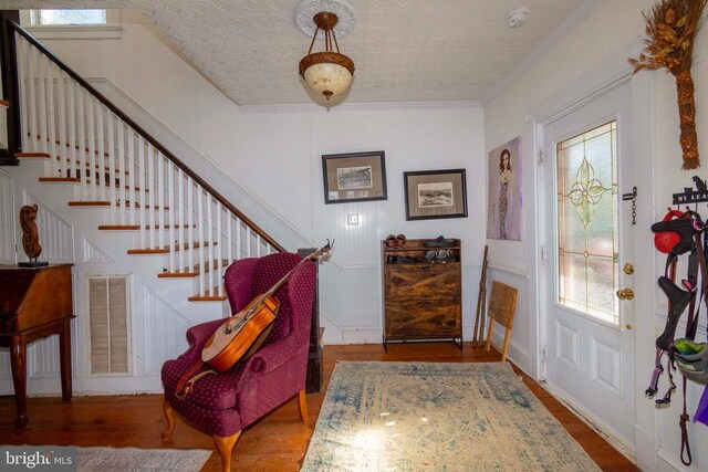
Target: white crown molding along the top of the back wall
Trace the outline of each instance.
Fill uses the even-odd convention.
[[[376,103],[342,103],[336,106],[322,106],[315,103],[284,104],[284,105],[239,105],[243,114],[269,113],[336,113],[358,111],[394,111],[394,109],[451,109],[451,108],[483,108],[480,101],[440,101],[440,102],[376,102]]]

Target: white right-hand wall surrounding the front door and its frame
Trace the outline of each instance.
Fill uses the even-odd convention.
[[[507,90],[496,96],[485,108],[485,135],[487,151],[512,139],[524,136],[524,159],[529,159],[530,166],[524,167],[524,196],[535,192],[534,188],[534,160],[535,146],[533,136],[529,135],[527,120],[530,113],[539,104],[554,99],[559,94],[580,87],[580,83],[586,80],[587,74],[597,70],[606,61],[614,57],[636,53],[639,38],[644,34],[644,20],[641,12],[648,9],[653,1],[649,0],[623,0],[601,1],[577,25],[565,36],[538,57]],[[637,259],[652,260],[653,264],[648,274],[638,274],[647,281],[644,285],[635,286],[637,298],[648,310],[636,313],[636,440],[638,464],[645,470],[674,470],[684,469],[678,459],[679,455],[679,429],[678,416],[681,407],[680,395],[674,396],[669,409],[655,410],[654,402],[644,398],[654,360],[654,338],[663,331],[663,319],[666,318],[666,298],[658,292],[656,279],[663,273],[664,260],[656,251],[652,250],[652,233],[649,224],[658,220],[665,209],[671,202],[670,195],[688,187],[690,178],[699,175],[706,178],[705,168],[708,164],[708,146],[706,145],[706,124],[708,123],[708,30],[700,32],[696,44],[696,57],[694,65],[694,80],[696,82],[696,99],[698,104],[698,133],[699,149],[704,156],[704,166],[698,171],[680,171],[680,147],[678,145],[678,113],[676,108],[676,86],[673,76],[664,71],[649,73],[648,77],[635,77],[645,81],[649,85],[642,95],[642,86],[635,99],[644,101],[645,107],[650,111],[652,127],[654,133],[646,136],[637,136],[642,150],[637,161],[645,167],[642,172],[649,176],[648,187],[639,189],[639,206],[653,208],[653,211],[643,210],[646,214],[639,221],[639,234],[649,241],[649,250],[636,254]],[[628,67],[628,66],[627,66]],[[612,77],[606,77],[612,78]],[[583,91],[577,90],[577,93]],[[653,108],[652,108],[653,107]],[[525,160],[524,160],[525,161]],[[654,177],[652,177],[654,176]],[[543,224],[535,221],[535,201],[527,204],[524,199],[524,222],[531,227]],[[642,208],[642,207],[641,207]],[[524,225],[524,228],[530,228]],[[534,234],[527,232],[522,242],[489,241],[490,264],[504,268],[510,273],[521,273],[533,282],[539,250],[534,245]],[[650,302],[649,302],[650,301]],[[533,302],[533,300],[532,300]],[[638,306],[638,305],[636,305]],[[534,303],[530,303],[531,318],[538,319],[539,313]],[[705,316],[705,314],[701,314]],[[702,319],[705,326],[705,318]],[[679,332],[683,327],[679,327]],[[705,339],[705,329],[701,328],[699,338]],[[538,354],[535,354],[538,357]],[[662,394],[666,387],[666,375],[662,379]],[[680,378],[680,376],[679,376]],[[679,387],[680,388],[680,387]],[[693,416],[701,387],[691,385],[689,388],[688,411]],[[694,465],[690,470],[708,469],[708,452],[702,447],[708,441],[708,430],[704,424],[689,424],[689,434],[694,452]]]

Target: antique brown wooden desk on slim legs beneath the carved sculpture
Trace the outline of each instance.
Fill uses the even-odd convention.
[[[28,343],[59,334],[62,398],[71,400],[71,268],[0,265],[0,347],[10,348],[18,429],[28,424]]]

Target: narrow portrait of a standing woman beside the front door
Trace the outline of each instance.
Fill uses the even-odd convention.
[[[487,238],[521,241],[521,138],[489,153]]]

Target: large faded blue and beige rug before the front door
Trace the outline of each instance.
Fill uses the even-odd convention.
[[[598,471],[508,363],[340,361],[302,471]]]

